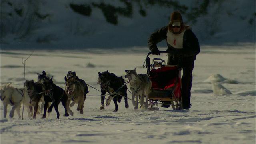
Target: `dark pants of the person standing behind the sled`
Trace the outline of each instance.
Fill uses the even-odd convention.
[[[192,71],[194,68],[194,60],[196,57],[184,57],[181,59],[181,67],[183,75],[181,78],[181,98],[182,98],[182,107],[184,109],[190,108],[190,96],[191,96],[191,87],[192,87]],[[168,55],[168,63],[170,65],[176,65],[179,62],[179,58]]]

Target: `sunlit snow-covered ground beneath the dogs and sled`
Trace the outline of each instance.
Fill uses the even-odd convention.
[[[165,50],[166,48],[160,48]],[[88,49],[84,51],[34,51],[26,60],[25,80],[36,80],[42,70],[53,76],[54,83],[64,88],[64,76],[76,71],[77,76],[96,89],[98,72],[124,76],[126,69],[137,67],[138,73],[146,73],[142,65],[148,48],[134,47],[117,50]],[[12,82],[23,87],[23,60],[32,51],[0,52],[1,84]],[[162,54],[158,58],[166,59]],[[120,102],[117,113],[114,103],[99,110],[100,92],[89,87],[84,104],[84,114],[71,109],[73,116],[60,119],[56,112],[41,119],[29,119],[24,110],[24,119],[3,117],[0,102],[1,144],[255,144],[256,142],[256,52],[254,44],[237,47],[201,46],[193,71],[192,108],[159,111],[124,108]],[[214,82],[215,81],[215,82]],[[217,81],[217,82],[216,82]],[[229,90],[232,94],[225,94]],[[128,98],[131,94],[128,92]],[[8,107],[8,114],[11,107]],[[22,110],[21,110],[22,111]]]

